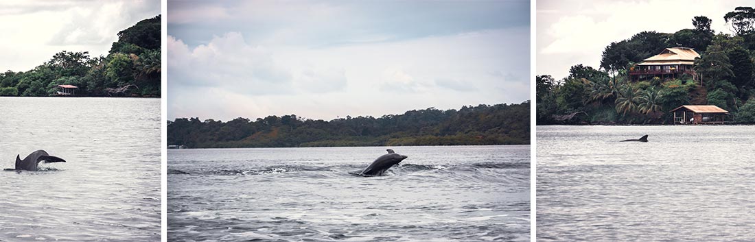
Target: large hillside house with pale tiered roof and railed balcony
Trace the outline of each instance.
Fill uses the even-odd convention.
[[[672,47],[661,51],[661,54],[649,57],[643,62],[630,67],[629,77],[631,80],[646,78],[678,78],[683,74],[692,75],[695,81],[698,75],[692,69],[695,66],[695,58],[700,54],[688,47]]]

